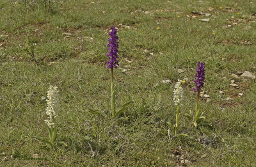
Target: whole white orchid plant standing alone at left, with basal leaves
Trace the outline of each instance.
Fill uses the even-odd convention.
[[[47,131],[49,134],[49,139],[47,138],[36,138],[43,143],[48,143],[51,147],[54,146],[54,143],[57,138],[57,131],[58,127],[56,125],[56,117],[58,116],[57,113],[60,111],[59,107],[59,95],[56,86],[50,86],[49,90],[47,91],[47,108],[45,109],[46,115],[49,116],[48,120],[44,120],[47,124]],[[64,142],[60,142],[65,145]]]

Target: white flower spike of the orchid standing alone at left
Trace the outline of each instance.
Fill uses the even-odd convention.
[[[55,118],[58,116],[56,114],[56,111],[60,111],[60,101],[59,101],[59,95],[58,95],[58,90],[56,86],[51,86],[49,87],[49,90],[47,91],[47,108],[45,109],[46,115],[49,116],[49,120],[44,120],[45,123],[49,127],[54,127],[55,123]]]

